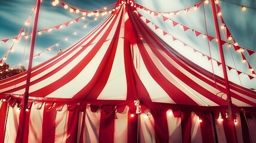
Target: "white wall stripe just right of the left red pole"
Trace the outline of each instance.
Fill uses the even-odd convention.
[[[42,119],[44,116],[44,106],[38,110],[35,104],[32,104],[30,117],[29,117],[29,142],[42,142]]]

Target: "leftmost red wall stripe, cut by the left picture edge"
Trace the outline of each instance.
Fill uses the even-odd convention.
[[[4,142],[5,137],[5,125],[7,120],[7,113],[8,113],[8,102],[2,102],[0,107],[0,142]]]

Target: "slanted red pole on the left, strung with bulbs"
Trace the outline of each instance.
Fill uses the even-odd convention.
[[[25,92],[24,92],[24,95],[23,95],[21,111],[20,111],[20,116],[21,116],[20,123],[19,123],[19,129],[20,129],[19,141],[20,142],[23,142],[23,137],[24,137],[25,120],[26,120],[26,107],[27,107],[27,101],[29,100],[30,77],[31,77],[33,53],[34,53],[35,41],[36,41],[36,29],[37,29],[37,26],[38,26],[38,15],[39,15],[40,4],[41,4],[41,0],[37,0],[36,1],[35,20],[34,20],[34,23],[33,23],[32,39],[31,39],[31,45],[30,45],[29,64],[28,64],[28,67],[27,67],[26,89],[25,89]]]

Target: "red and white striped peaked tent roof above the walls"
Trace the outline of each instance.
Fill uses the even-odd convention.
[[[30,99],[227,105],[223,78],[163,42],[134,7],[118,5],[81,41],[32,69]],[[23,95],[26,76],[1,80],[0,93]],[[229,84],[233,104],[256,106],[255,91]]]

